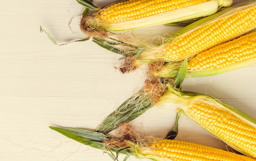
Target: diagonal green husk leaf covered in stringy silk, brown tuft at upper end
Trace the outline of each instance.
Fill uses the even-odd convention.
[[[120,124],[128,123],[142,115],[158,102],[166,91],[166,83],[172,82],[172,79],[145,80],[145,86],[112,112],[96,131],[109,133]]]

